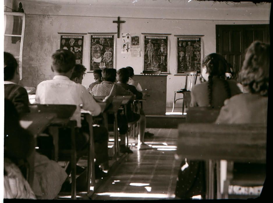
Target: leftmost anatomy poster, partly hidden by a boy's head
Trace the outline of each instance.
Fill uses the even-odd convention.
[[[83,35],[61,35],[60,49],[73,52],[76,64],[82,64],[84,36]]]

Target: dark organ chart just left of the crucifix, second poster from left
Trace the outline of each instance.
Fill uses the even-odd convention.
[[[116,68],[116,35],[114,33],[89,33],[90,69]]]

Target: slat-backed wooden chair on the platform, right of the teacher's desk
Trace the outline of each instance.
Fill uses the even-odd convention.
[[[189,72],[185,72],[186,74],[186,83],[185,83],[185,87],[183,89],[180,89],[178,91],[174,91],[174,99],[173,99],[173,109],[172,109],[172,113],[174,110],[174,105],[175,102],[179,99],[183,99],[183,104],[182,104],[182,113],[184,114],[184,105],[185,105],[185,93],[189,93],[192,89],[192,86],[194,86],[196,84],[196,80],[197,80],[197,70],[196,71],[189,71]],[[175,99],[175,96],[177,93],[182,93],[183,97],[179,98],[179,99]]]

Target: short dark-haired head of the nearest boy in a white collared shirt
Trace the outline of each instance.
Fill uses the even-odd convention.
[[[52,69],[58,73],[67,73],[76,64],[75,55],[66,49],[59,49],[52,54]]]

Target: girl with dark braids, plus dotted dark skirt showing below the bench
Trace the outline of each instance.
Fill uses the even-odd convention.
[[[223,56],[212,53],[202,60],[201,74],[205,82],[192,87],[191,106],[219,108],[224,100],[241,91],[233,80],[226,80],[227,61]],[[205,119],[205,118],[204,118]],[[189,199],[194,195],[205,197],[205,163],[183,160],[180,164],[175,195]]]

